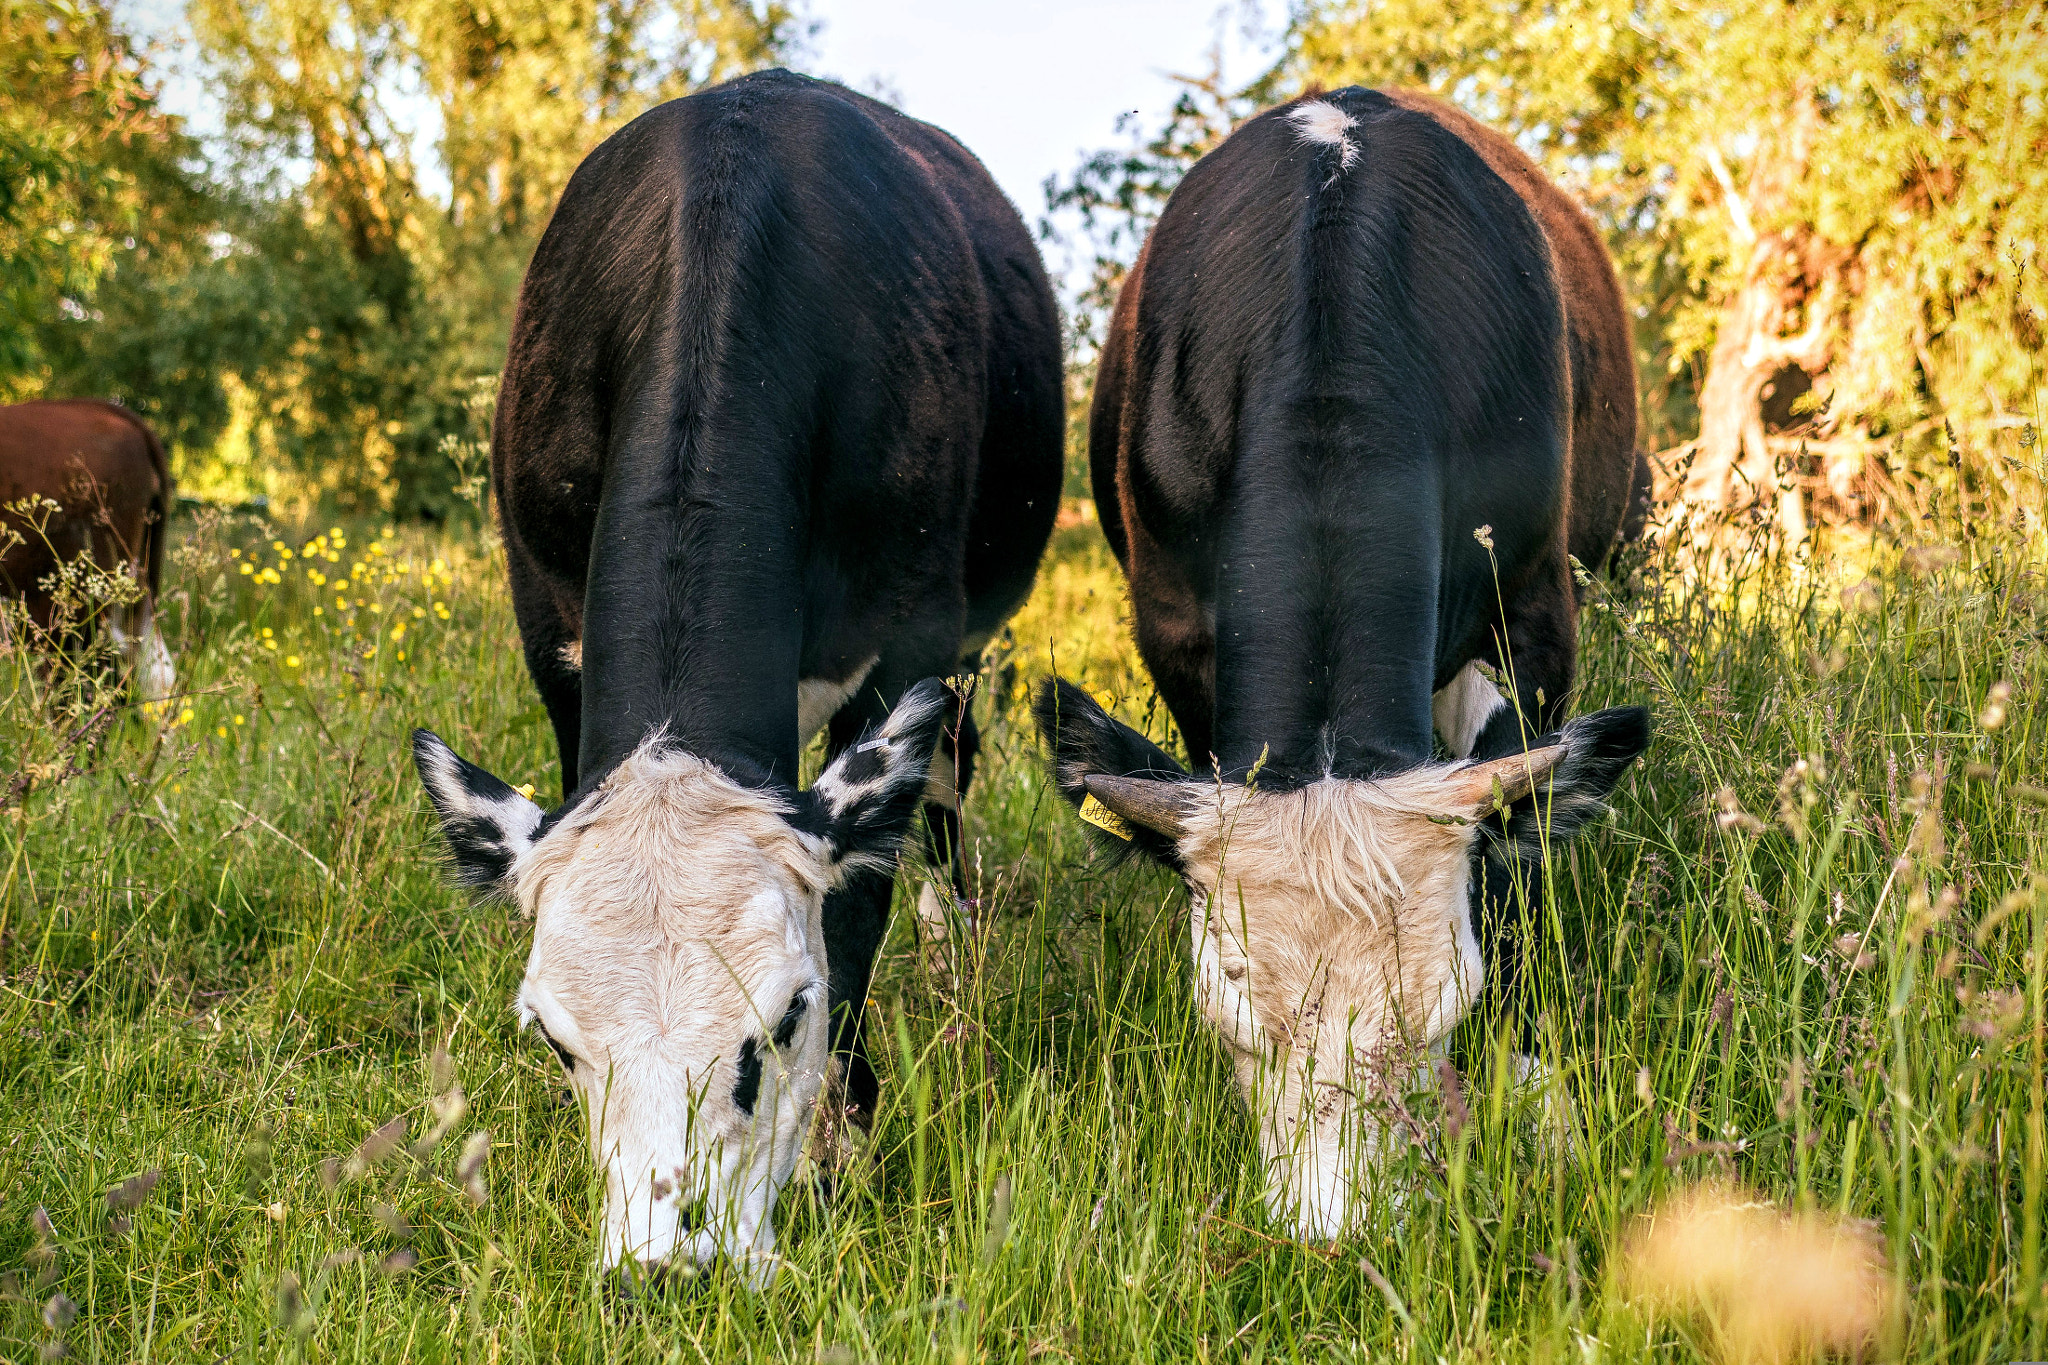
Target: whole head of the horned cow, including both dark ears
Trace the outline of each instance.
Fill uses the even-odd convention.
[[[1186,878],[1196,999],[1260,1124],[1268,1203],[1303,1236],[1360,1216],[1380,1148],[1362,1099],[1479,995],[1479,839],[1505,857],[1569,839],[1649,741],[1647,712],[1612,710],[1503,759],[1257,790],[1180,776],[1077,688],[1047,688],[1038,716],[1069,800]]]

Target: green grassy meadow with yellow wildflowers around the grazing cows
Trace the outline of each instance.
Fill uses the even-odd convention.
[[[180,516],[158,710],[16,632],[0,1357],[1782,1359],[1739,1304],[1620,1275],[1702,1185],[1858,1240],[1866,1357],[2042,1357],[2038,501],[1952,491],[1792,551],[1726,526],[1710,573],[1667,534],[1593,581],[1577,706],[1645,702],[1657,739],[1526,911],[1554,1091],[1481,1011],[1456,1083],[1403,1101],[1415,1195],[1315,1246],[1262,1207],[1186,892],[1106,868],[1047,788],[1024,696],[1055,665],[1169,737],[1071,512],[977,688],[967,970],[926,964],[907,868],[885,1109],[829,1197],[784,1195],[764,1295],[602,1289],[584,1124],[510,1011],[526,925],[442,874],[410,726],[559,794],[481,520]]]

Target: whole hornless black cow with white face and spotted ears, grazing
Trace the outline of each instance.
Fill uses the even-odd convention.
[[[936,675],[1030,589],[1059,364],[981,164],[840,86],[733,80],[569,180],[492,452],[565,798],[416,757],[461,876],[535,917],[518,1013],[588,1107],[606,1267],[723,1250],[764,1283],[827,1054],[870,1111],[897,843],[973,757]]]

